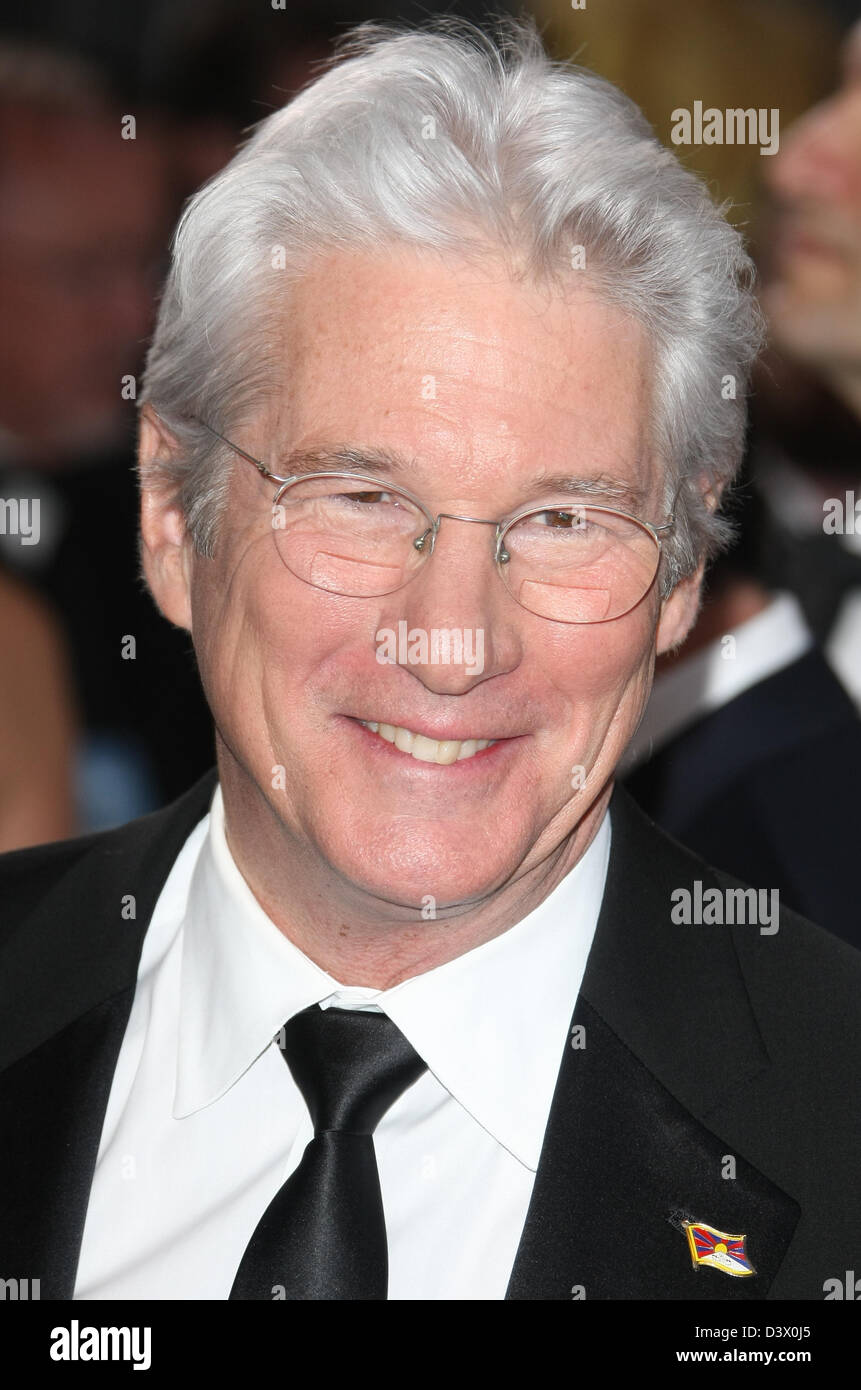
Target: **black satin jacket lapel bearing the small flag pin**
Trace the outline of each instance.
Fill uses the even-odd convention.
[[[800,1209],[721,1138],[718,1116],[768,1054],[729,929],[670,922],[673,890],[715,880],[625,792],[611,816],[577,1031],[506,1298],[765,1298]],[[744,1234],[755,1275],[694,1268],[683,1218]]]

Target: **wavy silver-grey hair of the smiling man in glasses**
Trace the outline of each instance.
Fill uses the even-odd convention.
[[[702,481],[716,495],[739,467],[762,342],[753,264],[725,211],[622,92],[551,61],[533,21],[359,25],[179,221],[140,393],[178,449],[145,481],[172,489],[211,555],[235,456],[196,421],[236,439],[253,418],[287,288],[313,257],[494,246],[534,281],[588,274],[650,334],[668,510],[679,491],[668,594],[732,535]],[[572,270],[576,246],[586,272]]]

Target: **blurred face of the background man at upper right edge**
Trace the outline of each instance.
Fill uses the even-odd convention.
[[[776,341],[811,366],[861,364],[861,24],[842,88],[798,121],[773,160]]]

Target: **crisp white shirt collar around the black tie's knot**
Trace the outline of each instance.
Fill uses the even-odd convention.
[[[609,860],[609,815],[508,931],[389,990],[345,987],[271,922],[224,834],[217,788],[184,922],[174,1115],[218,1099],[312,1004],[383,1009],[446,1091],[533,1172]]]

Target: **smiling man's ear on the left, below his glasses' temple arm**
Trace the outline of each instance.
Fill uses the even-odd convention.
[[[150,592],[164,617],[192,630],[192,545],[182,509],[159,478],[157,460],[175,456],[177,441],[149,406],[140,411],[140,557]]]

